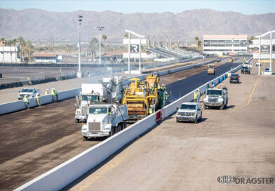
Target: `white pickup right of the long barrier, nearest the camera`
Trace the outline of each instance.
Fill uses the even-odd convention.
[[[175,119],[177,122],[180,121],[193,121],[195,124],[198,120],[203,117],[203,110],[199,103],[184,102],[177,108],[177,114]]]

